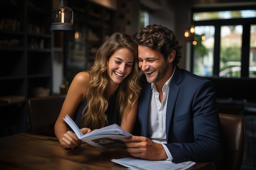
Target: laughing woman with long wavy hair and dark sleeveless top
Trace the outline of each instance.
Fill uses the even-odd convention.
[[[54,127],[61,146],[81,145],[67,129],[63,120],[66,114],[73,117],[83,134],[115,123],[132,132],[141,90],[139,73],[137,45],[127,34],[111,35],[99,48],[90,71],[78,73],[70,84]]]

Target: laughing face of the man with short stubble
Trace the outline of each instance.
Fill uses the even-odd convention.
[[[167,81],[170,62],[164,59],[163,55],[156,50],[146,46],[138,46],[139,68],[144,72],[147,82],[155,83],[160,80]],[[167,74],[166,74],[167,73]]]

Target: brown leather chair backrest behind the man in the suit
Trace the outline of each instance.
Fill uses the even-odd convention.
[[[245,121],[239,115],[219,113],[224,143],[224,159],[218,170],[240,170],[245,144]]]

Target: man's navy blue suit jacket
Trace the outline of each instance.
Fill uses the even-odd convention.
[[[141,136],[148,137],[151,84],[145,82],[139,100]],[[222,159],[223,148],[215,88],[211,81],[176,66],[166,109],[166,146],[173,161]]]

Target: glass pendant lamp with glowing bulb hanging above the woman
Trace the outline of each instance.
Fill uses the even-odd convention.
[[[65,7],[64,0],[61,0],[59,7],[52,10],[52,26],[50,31],[74,31],[73,10]]]

